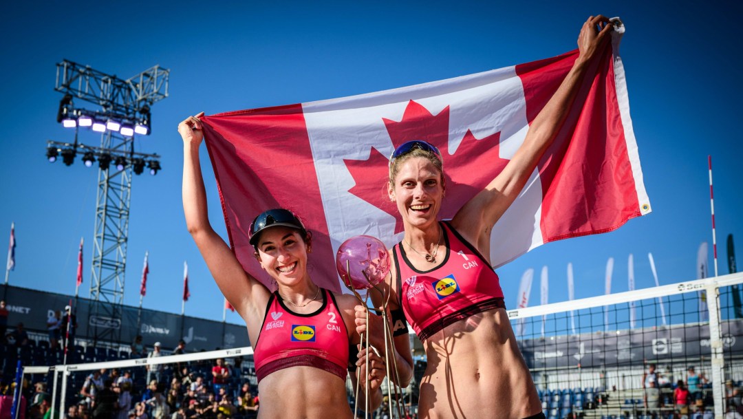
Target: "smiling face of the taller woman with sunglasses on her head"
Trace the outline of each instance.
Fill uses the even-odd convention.
[[[399,163],[387,192],[406,227],[424,228],[437,221],[444,198],[441,179],[441,170],[426,157],[409,157]]]

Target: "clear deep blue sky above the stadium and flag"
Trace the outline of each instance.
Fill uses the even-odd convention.
[[[712,241],[707,155],[713,157],[719,272],[732,233],[743,255],[739,156],[739,2],[11,2],[0,25],[0,240],[16,223],[10,283],[74,293],[77,247],[85,238],[88,296],[97,169],[45,159],[47,140],[72,141],[56,123],[62,95],[56,62],[69,59],[129,78],[153,65],[171,71],[169,97],[152,106],[153,130],[139,152],[162,156],[157,176],[135,176],[125,303],[139,302],[149,251],[146,308],[180,313],[184,260],[191,299],[186,314],[222,317],[222,296],[186,231],[181,207],[181,139],[189,114],[308,102],[472,74],[556,56],[575,48],[585,19],[620,16],[621,45],[635,134],[653,212],[599,236],[547,244],[498,273],[513,307],[524,270],[550,271],[551,302],[568,298],[572,262],[576,298],[603,294],[606,260],[615,259],[613,292],[627,290],[635,255],[637,288],[695,279],[696,251]],[[100,137],[82,131],[82,143]],[[226,237],[206,148],[202,162],[212,224]],[[6,241],[7,242],[7,241]],[[710,247],[710,272],[711,267]],[[11,302],[12,303],[12,302]],[[228,314],[230,322],[241,322]]]

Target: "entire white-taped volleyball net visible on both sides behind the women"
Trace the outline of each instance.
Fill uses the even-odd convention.
[[[696,383],[690,389],[690,411],[704,406],[721,418],[730,409],[725,382],[735,385],[743,380],[742,284],[743,273],[736,273],[508,311],[545,415],[667,418],[680,409],[672,395],[682,380]],[[403,390],[403,400],[415,413],[426,363],[421,343],[414,335],[411,340],[414,380]],[[132,403],[120,407],[122,418],[130,409],[152,413],[152,405],[136,403],[155,392],[168,400],[171,415],[198,408],[204,417],[255,417],[259,394],[250,347],[141,359],[128,359],[128,353],[110,349],[83,352],[72,357],[82,363],[22,368],[28,383],[46,382],[51,387],[53,412],[66,414],[71,406],[85,409],[90,393],[100,391],[97,386],[108,377],[119,383],[131,380]],[[218,358],[230,373],[224,383],[215,385],[212,368]],[[657,406],[654,394],[649,394],[650,404],[645,400],[651,366],[652,387],[660,399]],[[350,381],[347,389],[353,406]]]

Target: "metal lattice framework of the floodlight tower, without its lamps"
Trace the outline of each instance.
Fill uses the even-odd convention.
[[[71,95],[72,100],[100,106],[100,110],[85,111],[74,108],[72,100],[68,100],[65,113],[94,113],[101,120],[146,120],[149,126],[149,106],[168,96],[169,73],[169,70],[156,65],[125,80],[64,60],[57,64],[55,90]],[[60,112],[62,108],[60,105]],[[123,169],[114,165],[110,169],[106,166],[98,170],[91,258],[90,296],[95,303],[89,326],[94,329],[94,340],[119,341],[132,199],[132,163],[135,155],[148,155],[134,152],[133,135],[127,137],[111,131],[101,134],[100,147],[79,145],[76,131],[73,149],[95,150],[99,155],[119,156],[126,162]]]

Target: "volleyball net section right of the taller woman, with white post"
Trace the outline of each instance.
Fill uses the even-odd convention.
[[[509,311],[545,415],[706,409],[721,418],[732,409],[726,381],[743,380],[742,282],[736,273]],[[687,408],[674,400],[679,380],[690,387]]]

